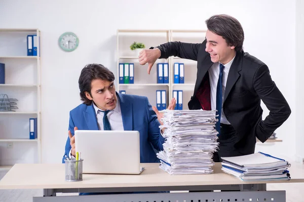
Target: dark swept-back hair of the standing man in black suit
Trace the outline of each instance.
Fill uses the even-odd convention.
[[[205,21],[208,30],[222,36],[227,45],[235,46],[236,51],[243,51],[244,31],[241,23],[229,15],[214,15]]]

